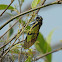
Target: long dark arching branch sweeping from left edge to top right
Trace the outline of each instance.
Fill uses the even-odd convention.
[[[20,16],[22,16],[22,15],[25,15],[25,14],[27,14],[27,13],[33,12],[33,11],[38,10],[38,9],[40,9],[40,8],[44,8],[44,7],[47,7],[47,6],[50,6],[50,5],[54,5],[54,4],[62,4],[62,1],[55,1],[55,2],[52,2],[52,3],[46,4],[46,5],[42,5],[42,6],[40,6],[40,7],[31,9],[31,10],[28,10],[28,11],[26,11],[26,12],[23,12],[23,13],[19,14],[19,15],[16,15],[16,16],[14,16],[13,18],[11,18],[10,20],[8,20],[4,25],[2,25],[2,26],[0,27],[0,30],[1,30],[5,25],[7,25],[9,22],[11,22],[12,20],[16,19],[17,17],[20,17]]]

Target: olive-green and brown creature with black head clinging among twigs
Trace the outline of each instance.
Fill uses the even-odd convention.
[[[30,48],[36,42],[39,35],[39,29],[42,26],[42,21],[42,16],[37,15],[35,22],[33,23],[25,38],[24,49]]]

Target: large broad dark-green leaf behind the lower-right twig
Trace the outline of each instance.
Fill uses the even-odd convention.
[[[46,42],[46,40],[44,39],[43,35],[40,32],[35,43],[35,47],[40,53],[43,54],[51,51],[51,46]],[[47,62],[51,62],[51,57],[52,54],[49,54],[48,56],[45,57],[47,59]]]

